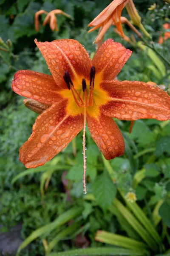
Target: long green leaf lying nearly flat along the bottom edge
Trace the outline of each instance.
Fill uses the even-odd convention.
[[[123,248],[112,248],[112,247],[95,247],[95,248],[85,248],[85,249],[76,249],[68,250],[61,253],[51,253],[50,256],[147,256],[146,251],[144,250],[128,250]]]

